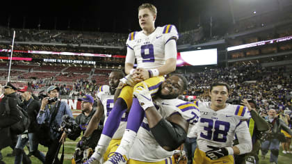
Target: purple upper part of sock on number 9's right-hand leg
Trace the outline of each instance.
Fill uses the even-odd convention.
[[[141,123],[143,122],[143,118],[145,117],[145,111],[140,106],[140,103],[137,98],[133,98],[133,103],[131,106],[130,113],[128,115],[127,127],[134,132],[138,132]]]

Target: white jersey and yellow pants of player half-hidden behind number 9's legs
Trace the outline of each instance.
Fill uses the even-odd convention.
[[[114,95],[110,94],[108,85],[102,85],[99,88],[97,97],[102,102],[102,106],[104,106],[104,115],[105,115],[104,124],[105,124],[108,118],[108,115],[111,113],[111,110],[113,109]],[[124,113],[121,118],[120,126],[117,128],[117,131],[115,131],[115,134],[113,135],[113,139],[111,140],[110,144],[108,145],[108,148],[106,149],[106,153],[104,154],[104,161],[107,160],[108,154],[110,154],[111,152],[115,152],[118,145],[120,145],[120,141],[124,134],[124,129],[126,129],[126,126],[127,126],[127,119],[128,119],[128,113]]]

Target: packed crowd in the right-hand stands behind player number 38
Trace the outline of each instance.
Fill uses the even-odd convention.
[[[231,86],[230,101],[254,99],[265,110],[284,110],[292,98],[292,72],[286,67],[261,67],[257,64],[206,69],[185,74],[188,79],[186,95],[196,95],[208,101],[209,86],[213,81],[225,81]]]

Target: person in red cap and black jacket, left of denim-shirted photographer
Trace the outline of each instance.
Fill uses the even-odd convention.
[[[38,140],[35,140],[35,131],[38,126],[36,117],[40,110],[40,102],[33,98],[33,89],[29,86],[25,86],[22,90],[18,90],[18,92],[21,92],[23,100],[22,104],[19,106],[26,110],[29,115],[29,120],[31,120],[31,124],[29,124],[28,131],[18,136],[17,145],[15,147],[15,164],[22,163],[23,155],[25,155],[23,149],[27,142],[29,142],[29,151],[31,154],[44,163],[44,154],[38,150]]]

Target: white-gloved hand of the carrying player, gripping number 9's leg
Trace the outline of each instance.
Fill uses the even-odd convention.
[[[135,95],[140,103],[140,106],[146,110],[147,108],[154,106],[152,102],[151,93],[147,87],[147,84],[143,81],[143,86],[138,86],[136,90],[133,91],[133,95]]]

